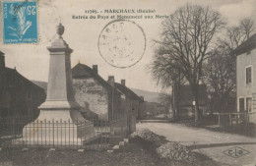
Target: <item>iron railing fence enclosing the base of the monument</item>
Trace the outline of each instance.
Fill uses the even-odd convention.
[[[0,145],[21,147],[108,148],[128,136],[127,118],[109,121],[0,119]]]

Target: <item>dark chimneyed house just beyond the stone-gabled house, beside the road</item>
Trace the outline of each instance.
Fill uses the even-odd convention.
[[[114,85],[124,95],[124,98],[121,99],[121,109],[127,115],[128,130],[133,133],[136,131],[136,119],[141,118],[144,100],[125,85],[125,80],[121,80],[121,83],[114,83]]]

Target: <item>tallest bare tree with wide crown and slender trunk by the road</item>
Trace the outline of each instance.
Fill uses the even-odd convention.
[[[181,73],[193,89],[196,104],[195,121],[199,120],[198,84],[202,79],[203,62],[217,32],[224,27],[221,15],[209,7],[187,4],[162,22],[161,62],[166,70]],[[159,56],[160,57],[160,56]]]

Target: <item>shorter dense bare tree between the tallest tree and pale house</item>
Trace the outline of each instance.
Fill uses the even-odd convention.
[[[226,112],[233,109],[235,96],[235,58],[224,45],[217,46],[204,64],[204,82],[211,95],[211,112]]]

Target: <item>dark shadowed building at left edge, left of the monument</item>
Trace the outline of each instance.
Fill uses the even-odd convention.
[[[43,89],[16,69],[5,66],[4,53],[0,51],[0,117],[38,116],[37,107],[45,100]]]

